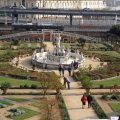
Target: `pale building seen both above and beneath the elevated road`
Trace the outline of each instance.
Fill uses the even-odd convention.
[[[22,5],[25,9],[51,8],[80,10],[88,8],[91,10],[101,10],[106,8],[106,3],[104,2],[104,0],[0,0],[0,7],[10,8],[14,5],[16,5],[18,8],[20,8],[20,6]],[[46,18],[49,17],[49,15],[19,15],[19,18],[26,18],[27,20],[31,20],[32,22],[36,22],[43,17]],[[50,17],[56,18],[58,16],[52,15]]]

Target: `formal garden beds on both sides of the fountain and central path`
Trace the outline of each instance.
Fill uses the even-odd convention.
[[[79,68],[72,76],[79,84],[79,89],[85,89],[86,92],[91,89],[109,89],[105,94],[93,93],[92,107],[99,118],[109,117],[102,102],[115,115],[120,115],[120,38],[112,29],[102,42],[89,42],[83,38],[73,43],[62,42],[66,49],[70,48],[73,52],[78,49],[86,58],[100,63],[95,69],[92,64],[84,69]],[[3,95],[0,109],[3,119],[32,120],[36,117],[36,120],[69,120],[60,92],[64,89],[60,77],[54,71],[38,72],[34,65],[31,65],[31,70],[18,67],[19,58],[31,56],[36,48],[46,50],[46,44],[38,40],[0,41],[0,93]],[[17,62],[12,65],[11,61],[15,57]]]

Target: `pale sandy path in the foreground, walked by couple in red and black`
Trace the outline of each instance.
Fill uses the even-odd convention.
[[[98,118],[92,108],[82,109],[81,97],[84,94],[84,89],[73,89],[78,88],[78,84],[74,82],[72,77],[69,77],[71,81],[70,90],[62,90],[62,96],[65,101],[70,120],[85,120],[85,119],[96,119]]]

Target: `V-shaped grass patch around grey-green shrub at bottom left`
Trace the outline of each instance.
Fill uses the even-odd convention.
[[[13,120],[25,120],[25,119],[31,118],[31,117],[39,114],[39,112],[30,110],[30,109],[24,108],[24,107],[18,107],[17,109],[23,110],[23,111],[25,111],[25,113],[20,116],[12,117]]]

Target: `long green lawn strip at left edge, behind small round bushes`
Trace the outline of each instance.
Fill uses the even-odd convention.
[[[20,85],[29,85],[31,86],[32,84],[35,84],[37,86],[40,86],[39,82],[36,81],[31,81],[31,80],[20,80],[20,79],[13,79],[13,78],[8,78],[8,77],[0,77],[0,84],[4,82],[9,82],[12,86],[20,86]]]

